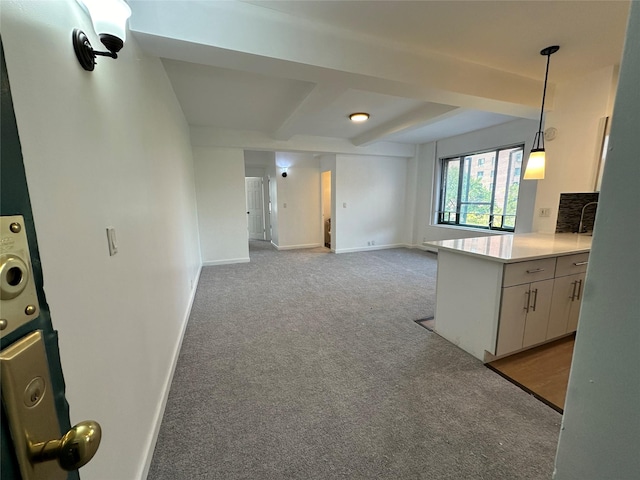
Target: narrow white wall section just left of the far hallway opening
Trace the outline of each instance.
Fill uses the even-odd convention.
[[[193,159],[203,264],[248,262],[244,151],[194,147]]]

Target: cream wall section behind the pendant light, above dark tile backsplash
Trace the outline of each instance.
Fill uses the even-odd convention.
[[[558,133],[554,140],[545,142],[546,173],[544,180],[538,180],[535,205],[536,211],[551,208],[551,216],[536,216],[535,231],[555,232],[561,193],[594,191],[601,142],[599,122],[611,115],[612,86],[616,83],[617,70],[611,66],[556,86],[545,128],[555,127]]]

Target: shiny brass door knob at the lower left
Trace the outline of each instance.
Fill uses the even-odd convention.
[[[29,456],[33,463],[58,460],[64,470],[77,470],[85,465],[98,451],[102,429],[98,422],[80,422],[60,440],[29,442]]]

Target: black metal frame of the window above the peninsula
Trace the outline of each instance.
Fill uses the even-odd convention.
[[[489,149],[484,149],[484,150],[478,150],[478,151],[474,151],[474,152],[469,152],[469,153],[464,153],[464,154],[459,154],[459,155],[449,155],[446,157],[440,157],[438,158],[438,168],[439,168],[439,175],[438,175],[438,179],[440,182],[439,188],[438,188],[438,197],[437,197],[437,211],[436,211],[436,215],[435,215],[435,222],[436,225],[445,225],[445,226],[455,226],[455,227],[463,227],[463,228],[470,228],[470,229],[477,229],[477,230],[491,230],[491,231],[499,231],[499,232],[507,232],[507,233],[513,233],[515,232],[516,229],[516,222],[517,222],[517,213],[513,215],[513,227],[504,227],[504,226],[500,226],[500,227],[496,227],[494,226],[494,217],[496,216],[496,214],[493,211],[494,208],[494,204],[495,204],[495,195],[496,195],[496,184],[497,182],[497,176],[498,176],[498,161],[500,158],[500,152],[504,151],[504,150],[513,150],[513,149],[520,149],[520,151],[522,152],[522,159],[521,159],[521,165],[520,165],[520,175],[518,178],[518,201],[520,200],[520,188],[522,185],[522,164],[524,163],[524,151],[525,151],[525,143],[524,142],[518,142],[518,143],[514,143],[514,144],[510,144],[510,145],[504,145],[504,146],[500,146],[500,147],[495,147],[495,148],[489,148]],[[493,175],[487,175],[485,178],[491,178],[491,183],[490,183],[490,191],[491,191],[491,200],[489,202],[462,202],[461,201],[461,195],[462,195],[462,185],[463,185],[463,181],[464,181],[464,176],[465,176],[465,158],[466,157],[470,157],[470,156],[474,156],[474,155],[484,155],[484,154],[494,154],[495,155],[495,160],[494,160],[494,165],[493,165]],[[455,210],[455,215],[454,215],[454,219],[453,220],[445,220],[445,215],[451,215],[452,212],[445,210],[445,206],[444,206],[444,202],[446,201],[445,198],[445,194],[446,194],[446,187],[447,187],[447,179],[446,179],[446,175],[448,173],[448,165],[447,162],[450,161],[455,161],[457,160],[459,162],[459,173],[458,173],[458,189],[457,189],[457,198],[456,198],[456,210]],[[484,158],[483,158],[484,160]],[[509,159],[509,163],[512,162],[512,159]],[[483,162],[484,164],[485,162]],[[515,170],[518,167],[513,167],[513,169]],[[511,171],[511,166],[507,167],[507,171],[510,172]],[[515,174],[515,172],[514,172]],[[507,181],[505,183],[505,187],[507,187],[510,184],[509,178],[514,179],[514,177],[512,176],[508,176],[507,177]],[[511,180],[511,183],[514,183],[513,180]],[[485,187],[486,188],[486,187]],[[506,188],[507,190],[507,197],[505,197],[505,204],[508,201],[508,188]],[[488,205],[489,206],[489,221],[488,221],[488,225],[486,226],[482,226],[482,225],[472,225],[472,224],[466,224],[466,223],[461,223],[460,219],[462,216],[462,206],[463,205]],[[517,207],[516,207],[517,209]],[[497,214],[500,215],[500,214]],[[504,217],[504,215],[503,215]],[[450,217],[449,217],[450,218]],[[504,218],[502,221],[502,225],[504,225]]]

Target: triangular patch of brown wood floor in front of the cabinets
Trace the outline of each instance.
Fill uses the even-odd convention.
[[[574,342],[575,336],[571,335],[487,366],[562,413]]]

